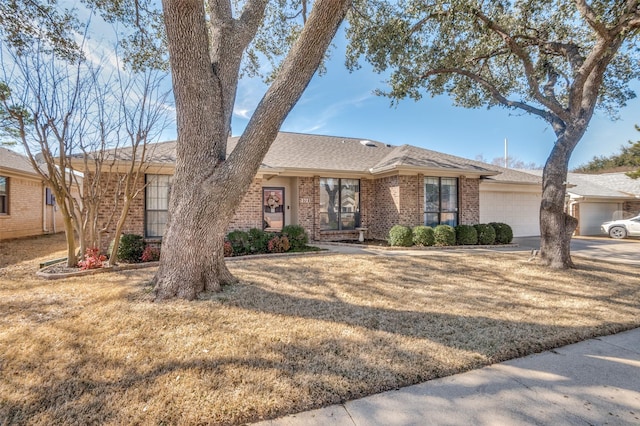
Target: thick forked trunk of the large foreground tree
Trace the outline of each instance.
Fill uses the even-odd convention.
[[[202,0],[163,0],[178,140],[169,221],[155,276],[156,299],[192,300],[234,281],[224,263],[223,243],[235,209],[280,125],[317,70],[350,2],[318,0],[314,4],[298,41],[229,158],[225,151],[240,59],[262,20],[265,2],[247,3],[249,10],[243,17],[253,27],[225,21],[224,10],[216,15],[216,8],[225,4],[209,3],[213,28],[208,32]]]

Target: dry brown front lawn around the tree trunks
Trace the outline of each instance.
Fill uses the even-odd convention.
[[[35,278],[64,253],[36,242],[0,246],[0,424],[238,424],[640,326],[636,269],[582,259],[242,259],[238,285],[154,303],[154,269]]]

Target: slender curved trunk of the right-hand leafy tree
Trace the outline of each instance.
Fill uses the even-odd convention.
[[[542,175],[540,203],[540,259],[551,268],[572,268],[571,237],[578,220],[566,213],[567,173],[571,152],[584,134],[581,129],[560,132]]]

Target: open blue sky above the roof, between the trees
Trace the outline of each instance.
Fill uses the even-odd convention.
[[[340,35],[338,35],[340,37]],[[336,44],[344,45],[338,40]],[[334,49],[327,73],[316,76],[282,126],[283,131],[373,139],[393,145],[411,144],[435,151],[475,159],[509,156],[526,163],[544,165],[555,142],[550,126],[534,116],[504,108],[465,109],[452,106],[446,96],[420,101],[403,100],[391,107],[390,100],[373,94],[385,88],[384,76],[363,68],[349,73],[344,66],[344,47]],[[633,85],[640,95],[640,82]],[[258,79],[245,79],[238,88],[232,132],[238,135],[260,100],[265,86]],[[631,100],[611,121],[602,113],[591,121],[587,134],[573,152],[570,167],[584,164],[596,155],[619,152],[627,141],[640,140],[634,124],[640,124],[640,100]]]

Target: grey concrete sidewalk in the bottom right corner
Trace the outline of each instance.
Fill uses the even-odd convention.
[[[258,424],[640,425],[640,329]]]

